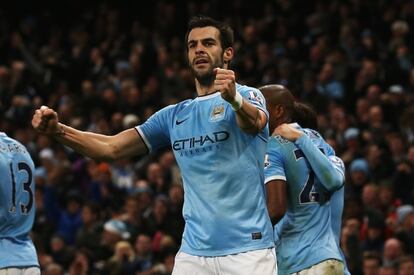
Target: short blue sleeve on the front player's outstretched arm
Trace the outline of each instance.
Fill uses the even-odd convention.
[[[145,142],[148,151],[157,151],[171,144],[169,124],[172,121],[171,114],[174,106],[171,105],[159,110],[143,124],[135,127]]]

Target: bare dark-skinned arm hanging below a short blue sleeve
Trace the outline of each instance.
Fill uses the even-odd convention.
[[[272,224],[277,224],[286,212],[286,181],[271,180],[266,183],[267,210]]]

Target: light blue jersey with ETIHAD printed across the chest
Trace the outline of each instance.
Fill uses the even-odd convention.
[[[259,90],[236,88],[267,114]],[[267,127],[257,135],[243,132],[216,92],[168,106],[137,130],[151,151],[171,146],[180,167],[186,222],[181,251],[222,256],[274,246],[263,186]]]

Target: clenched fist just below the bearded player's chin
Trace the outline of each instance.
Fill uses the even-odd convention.
[[[221,97],[232,103],[236,96],[236,76],[232,70],[215,68],[216,79],[214,80],[214,87],[220,91]]]

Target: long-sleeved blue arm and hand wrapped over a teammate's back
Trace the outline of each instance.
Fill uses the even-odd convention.
[[[275,129],[274,134],[295,142],[302,150],[315,175],[328,191],[335,191],[344,184],[343,174],[338,171],[331,159],[325,156],[302,131],[289,124],[282,124]],[[336,158],[337,161],[338,159]]]

